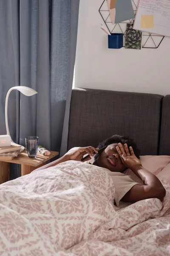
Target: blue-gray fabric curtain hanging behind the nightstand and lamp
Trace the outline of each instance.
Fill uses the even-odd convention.
[[[40,145],[60,151],[63,137],[66,150],[78,12],[79,0],[0,0],[0,134],[7,91],[28,86],[38,94],[10,94],[12,139],[25,145],[37,135]]]

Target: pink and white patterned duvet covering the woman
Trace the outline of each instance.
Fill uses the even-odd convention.
[[[113,206],[105,169],[68,161],[0,185],[0,255],[170,255],[164,201]]]

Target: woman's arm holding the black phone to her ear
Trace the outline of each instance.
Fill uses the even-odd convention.
[[[45,166],[41,166],[40,168],[36,169],[36,171],[43,170],[52,166],[56,166],[59,163],[63,163],[69,160],[81,161],[81,159],[85,154],[89,154],[89,156],[94,156],[94,152],[97,154],[98,153],[97,149],[99,148],[94,148],[92,146],[84,147],[84,148],[76,148],[76,149],[73,148],[73,150],[68,151],[63,157],[60,157],[59,159],[53,161],[52,163],[48,163]],[[90,159],[91,157],[88,157],[86,158],[85,161]]]

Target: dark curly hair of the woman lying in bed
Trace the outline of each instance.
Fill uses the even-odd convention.
[[[104,146],[108,146],[113,143],[122,143],[122,144],[127,143],[128,148],[131,146],[133,148],[134,154],[139,159],[139,154],[140,154],[139,148],[137,148],[136,143],[134,143],[134,141],[132,139],[130,139],[129,137],[126,137],[126,136],[113,135],[110,138],[103,140],[101,143],[99,143],[97,148],[102,148]],[[96,160],[98,156],[99,156],[99,154],[95,154],[94,159]]]

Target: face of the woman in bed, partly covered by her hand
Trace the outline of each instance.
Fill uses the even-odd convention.
[[[107,168],[111,172],[123,172],[126,169],[119,157],[116,146],[119,146],[119,144],[113,143],[102,151],[95,161],[97,166]]]

